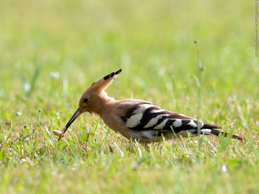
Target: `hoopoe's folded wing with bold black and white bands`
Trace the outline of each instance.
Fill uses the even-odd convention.
[[[131,101],[127,99],[120,103],[117,109],[117,116],[121,122],[132,130],[182,130],[196,131],[198,123],[201,129],[221,129],[221,126],[198,122],[196,119],[183,114],[174,113],[161,109],[160,107],[141,100]]]

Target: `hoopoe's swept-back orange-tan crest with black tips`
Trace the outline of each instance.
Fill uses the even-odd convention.
[[[94,90],[98,92],[102,92],[112,83],[112,81],[117,77],[117,75],[121,71],[122,69],[119,69],[116,72],[112,72],[107,76],[104,76],[102,79],[99,79],[98,81],[92,83],[92,85],[90,85],[85,92],[94,91]]]

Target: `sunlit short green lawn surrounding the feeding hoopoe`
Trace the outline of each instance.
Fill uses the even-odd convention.
[[[0,1],[0,192],[258,193],[253,9],[222,0]],[[83,91],[120,68],[111,97],[197,117],[196,39],[201,120],[245,141],[190,137],[146,148],[83,114],[57,143],[52,131]]]

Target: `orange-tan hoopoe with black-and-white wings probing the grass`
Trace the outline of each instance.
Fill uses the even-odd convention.
[[[219,125],[198,122],[194,118],[163,110],[144,100],[117,101],[110,98],[104,90],[120,72],[121,69],[112,72],[85,90],[79,100],[78,109],[64,127],[63,133],[84,112],[99,115],[107,126],[124,137],[145,143],[161,141],[162,136],[166,139],[174,138],[175,135],[187,137],[187,131],[198,135],[198,123],[201,134],[218,136],[219,133],[222,133],[215,130],[222,129]],[[241,137],[235,135],[232,138],[242,140]]]

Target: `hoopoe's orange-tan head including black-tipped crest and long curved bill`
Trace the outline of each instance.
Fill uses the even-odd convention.
[[[78,109],[75,111],[74,115],[70,118],[66,126],[64,127],[61,136],[66,132],[69,126],[76,120],[76,118],[84,112],[96,113],[96,107],[100,103],[100,96],[106,95],[104,90],[112,83],[112,81],[117,77],[121,72],[121,69],[104,76],[102,79],[94,82],[90,85],[82,94],[79,103]]]

